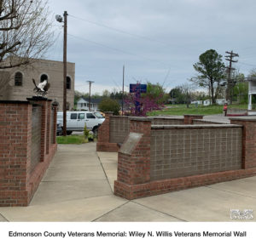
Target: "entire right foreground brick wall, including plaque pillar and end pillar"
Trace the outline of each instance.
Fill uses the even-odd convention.
[[[119,150],[114,194],[130,200],[256,175],[256,119],[247,119],[152,127],[133,119]]]

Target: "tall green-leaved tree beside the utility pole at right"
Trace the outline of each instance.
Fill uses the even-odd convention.
[[[225,77],[222,55],[209,49],[199,56],[199,62],[195,63],[193,67],[200,75],[192,77],[190,81],[200,87],[207,88],[212,104],[215,104],[218,94],[221,93],[220,82]]]

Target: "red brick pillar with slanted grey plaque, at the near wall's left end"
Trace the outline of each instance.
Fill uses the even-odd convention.
[[[119,150],[118,179],[114,182],[114,194],[119,197],[140,197],[136,186],[150,181],[151,121],[147,117],[130,117],[130,134]]]

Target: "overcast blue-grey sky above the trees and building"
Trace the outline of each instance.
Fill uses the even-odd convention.
[[[200,54],[239,54],[233,67],[256,68],[255,0],[49,0],[51,14],[67,11],[67,60],[75,90],[102,94],[130,83],[160,83],[166,92],[196,76]],[[63,28],[46,59],[63,57]],[[224,60],[228,66],[228,61]]]

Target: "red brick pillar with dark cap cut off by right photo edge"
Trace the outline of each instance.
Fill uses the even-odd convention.
[[[256,119],[255,117],[230,118],[231,124],[242,129],[242,168],[256,168]]]

